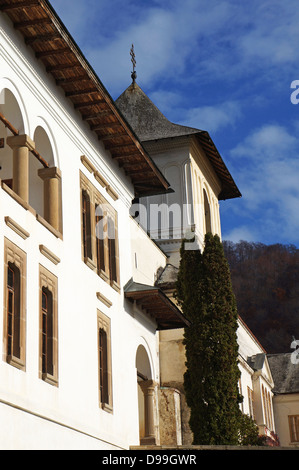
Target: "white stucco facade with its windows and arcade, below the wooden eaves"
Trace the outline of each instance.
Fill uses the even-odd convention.
[[[11,2],[2,4],[9,11]],[[60,37],[48,4],[30,12],[35,9]],[[124,289],[132,280],[153,286],[166,255],[130,215],[137,186],[57,86],[38,59],[44,55],[32,50],[30,38],[26,44],[26,28],[0,14],[0,448],[127,449],[141,438],[159,442],[159,320],[125,298]],[[165,190],[166,180],[137,140],[134,145]],[[84,239],[84,192],[106,204],[117,226],[108,268],[95,264],[96,236]],[[88,243],[92,253],[85,253]],[[44,299],[51,301],[51,333],[43,323],[50,318]],[[167,309],[175,317],[169,303]],[[99,332],[106,335],[104,359]]]

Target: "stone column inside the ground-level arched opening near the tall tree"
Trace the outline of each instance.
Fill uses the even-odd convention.
[[[156,444],[155,435],[155,422],[154,422],[154,394],[155,383],[153,380],[145,380],[139,382],[139,385],[144,393],[144,424],[145,436],[141,444]]]

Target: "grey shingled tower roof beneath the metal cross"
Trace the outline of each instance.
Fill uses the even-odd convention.
[[[221,182],[219,199],[241,196],[208,132],[169,121],[135,81],[117,98],[116,105],[142,143],[195,136]]]

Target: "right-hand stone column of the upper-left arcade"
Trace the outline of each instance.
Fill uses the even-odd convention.
[[[56,167],[41,168],[38,175],[44,181],[44,218],[60,232],[61,172]]]

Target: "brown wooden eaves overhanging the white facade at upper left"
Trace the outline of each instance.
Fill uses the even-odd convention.
[[[169,183],[144,150],[136,134],[87,62],[47,0],[0,0],[0,11],[63,88],[125,174],[135,197],[164,193]]]

